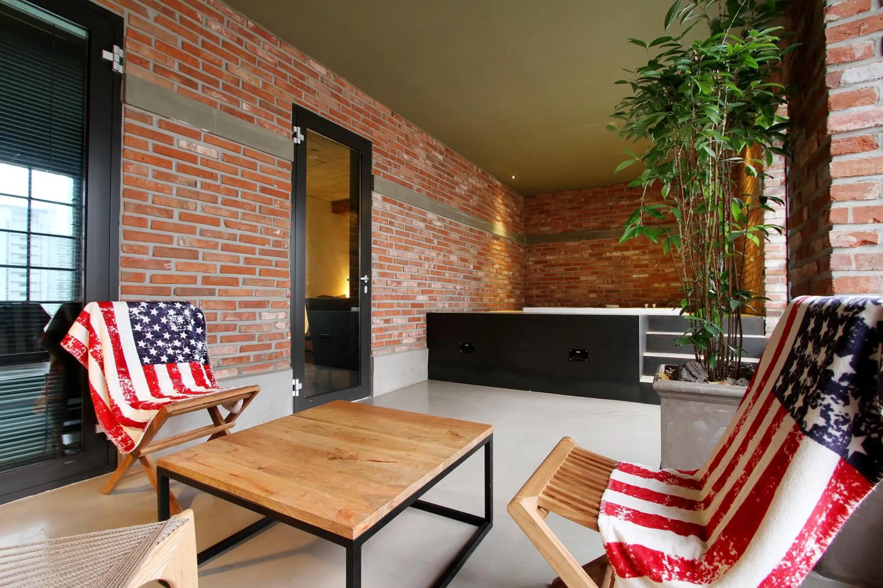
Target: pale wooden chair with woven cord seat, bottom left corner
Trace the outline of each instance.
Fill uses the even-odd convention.
[[[168,521],[0,547],[8,588],[197,588],[193,511]]]

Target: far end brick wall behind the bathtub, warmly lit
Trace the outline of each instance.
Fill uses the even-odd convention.
[[[525,198],[525,234],[622,229],[641,190],[625,184]],[[526,248],[527,306],[665,306],[681,299],[671,257],[646,239],[551,242]]]

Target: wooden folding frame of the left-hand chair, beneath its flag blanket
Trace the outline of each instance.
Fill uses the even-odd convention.
[[[208,441],[211,441],[212,439],[216,439],[223,435],[230,435],[230,429],[236,425],[236,420],[239,418],[239,415],[245,411],[245,408],[252,402],[254,397],[257,396],[259,391],[260,386],[257,385],[242,386],[240,388],[231,388],[230,390],[187,398],[186,400],[181,400],[174,404],[162,406],[159,413],[156,413],[154,420],[147,426],[147,430],[144,431],[144,436],[141,437],[138,447],[132,450],[131,453],[126,453],[120,458],[117,469],[114,473],[110,474],[107,484],[102,488],[102,493],[110,494],[113,492],[114,489],[117,488],[120,480],[123,479],[125,473],[136,460],[140,462],[141,467],[144,468],[144,473],[147,474],[147,480],[150,480],[151,486],[156,490],[156,464],[154,458],[151,456],[152,453],[169,449],[170,447],[180,445],[181,443],[187,443],[188,441],[193,441],[194,439],[199,439],[204,436],[208,436]],[[242,402],[242,405],[239,406],[238,411],[235,413],[231,412],[224,417],[221,413],[220,406],[235,404],[239,401]],[[193,413],[202,410],[203,408],[208,410],[208,415],[212,419],[211,425],[194,428],[179,435],[165,437],[164,439],[154,442],[156,434],[160,432],[162,425],[164,425],[170,417]],[[171,503],[172,514],[181,512],[181,505],[177,502],[175,495],[171,494],[171,492],[169,493],[169,500]]]

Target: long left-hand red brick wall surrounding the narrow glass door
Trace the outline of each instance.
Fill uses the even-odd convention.
[[[523,232],[515,191],[225,4],[95,2],[125,18],[127,76],[285,137],[299,104],[369,138],[374,174]],[[125,138],[121,294],[198,302],[222,376],[286,366],[288,162],[132,108]],[[400,205],[374,213],[375,354],[425,346],[426,309],[524,299],[519,245],[421,215]],[[422,258],[420,242],[440,257]],[[486,251],[494,255],[479,263]],[[381,276],[396,268],[381,260],[403,256],[400,275]]]

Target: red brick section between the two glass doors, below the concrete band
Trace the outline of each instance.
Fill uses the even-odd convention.
[[[184,298],[219,377],[289,363],[291,163],[126,107],[123,299]]]

